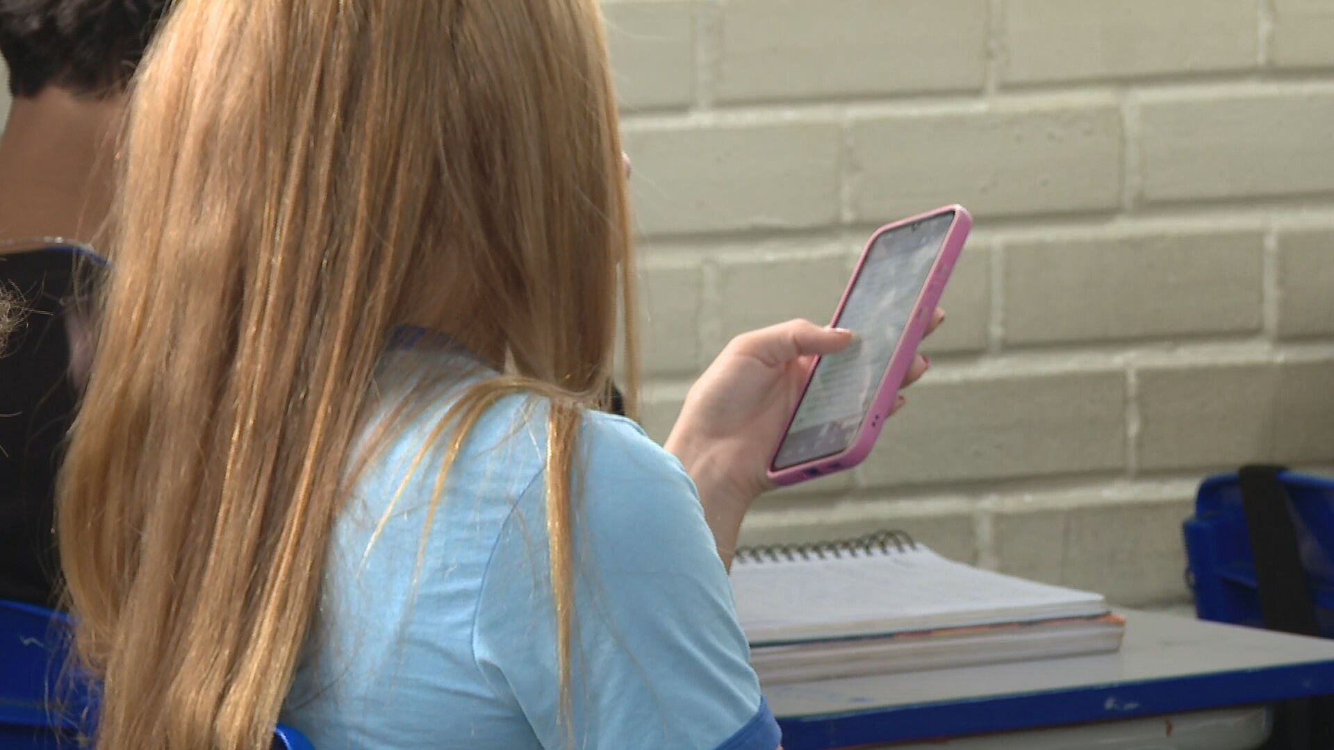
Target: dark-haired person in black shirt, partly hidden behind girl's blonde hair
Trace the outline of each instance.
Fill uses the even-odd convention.
[[[167,0],[0,0],[13,104],[0,137],[0,598],[53,605],[52,494],[75,408],[80,247],[111,206],[125,88]],[[64,251],[61,251],[64,250]]]

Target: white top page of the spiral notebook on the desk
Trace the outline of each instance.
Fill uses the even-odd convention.
[[[1086,617],[1103,598],[956,563],[918,547],[858,556],[738,562],[736,614],[751,645]]]

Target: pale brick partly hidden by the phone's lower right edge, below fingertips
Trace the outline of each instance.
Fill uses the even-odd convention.
[[[1126,464],[1126,379],[1069,372],[932,382],[860,466],[867,484],[920,484],[1119,470]]]

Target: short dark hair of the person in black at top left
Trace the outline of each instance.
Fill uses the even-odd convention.
[[[0,0],[9,91],[124,91],[169,0]]]

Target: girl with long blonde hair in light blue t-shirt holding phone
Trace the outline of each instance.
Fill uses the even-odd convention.
[[[599,411],[595,0],[177,0],[127,128],[57,527],[99,750],[778,745],[726,565],[848,334],[738,338],[667,450]]]

